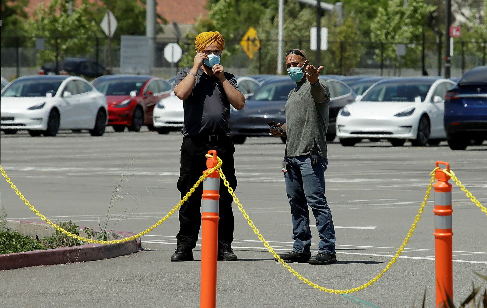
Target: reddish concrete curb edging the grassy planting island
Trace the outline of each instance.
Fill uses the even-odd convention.
[[[51,228],[47,223],[39,221],[19,221],[10,219],[8,219],[7,221],[10,223],[20,224],[23,227],[31,224],[34,228]],[[80,229],[82,228],[83,227],[80,227]],[[124,238],[134,235],[135,233],[127,231],[111,232],[111,236],[114,238]],[[13,270],[29,266],[95,261],[114,258],[121,255],[133,254],[141,250],[142,243],[140,241],[140,238],[135,238],[125,243],[113,245],[87,244],[82,246],[36,250],[16,254],[0,254],[0,270]]]

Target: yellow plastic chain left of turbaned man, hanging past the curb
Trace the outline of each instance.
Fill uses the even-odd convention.
[[[209,169],[208,171],[206,171],[201,177],[200,179],[193,185],[193,187],[191,187],[189,189],[189,191],[186,193],[186,196],[183,197],[183,199],[181,199],[178,204],[176,204],[170,211],[169,213],[162,217],[161,219],[159,219],[159,221],[157,221],[155,224],[153,224],[152,226],[150,226],[149,228],[147,228],[146,230],[142,231],[142,232],[139,232],[137,233],[136,235],[134,236],[130,236],[130,237],[126,237],[126,238],[121,238],[121,239],[116,239],[116,240],[110,240],[110,241],[100,241],[100,240],[97,240],[97,239],[91,239],[91,238],[86,238],[86,237],[83,237],[83,236],[78,236],[78,235],[75,235],[69,231],[66,231],[64,230],[63,228],[61,228],[59,225],[57,225],[56,223],[52,222],[51,220],[49,220],[48,218],[46,218],[44,215],[42,215],[39,211],[37,211],[37,209],[34,207],[34,205],[30,204],[30,202],[25,199],[24,195],[22,195],[19,191],[19,189],[14,185],[14,183],[12,183],[12,181],[10,180],[10,178],[7,176],[7,173],[5,172],[5,170],[3,170],[3,168],[1,167],[0,165],[0,171],[1,171],[1,175],[5,178],[5,180],[7,181],[7,183],[10,184],[10,187],[12,187],[13,190],[15,190],[15,193],[19,196],[19,198],[24,201],[24,204],[27,205],[28,207],[30,207],[30,209],[32,211],[34,211],[36,213],[36,215],[38,217],[40,217],[40,219],[44,220],[48,225],[50,225],[51,227],[53,227],[54,229],[56,229],[57,231],[60,231],[61,233],[65,234],[66,236],[71,236],[73,238],[76,238],[78,240],[81,240],[83,242],[87,242],[87,243],[95,243],[95,244],[117,244],[117,243],[124,243],[124,242],[128,242],[132,239],[135,239],[137,237],[140,237],[140,236],[143,236],[147,233],[149,233],[150,231],[154,230],[155,228],[157,228],[161,223],[163,223],[164,221],[166,221],[166,219],[168,219],[169,217],[171,217],[172,214],[174,214],[180,207],[181,205],[183,205],[183,203],[185,201],[187,201],[187,199],[191,196],[192,193],[194,193],[195,189],[200,185],[200,183],[208,176],[210,175],[212,172],[214,172],[216,169],[219,169],[220,167],[222,166],[222,161],[219,160],[218,161],[218,164],[214,167],[214,168],[211,168]]]

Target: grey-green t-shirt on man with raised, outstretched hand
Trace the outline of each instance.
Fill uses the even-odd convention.
[[[326,130],[330,122],[329,103],[330,89],[326,81],[321,79],[317,86],[311,86],[305,79],[289,93],[284,107],[288,157],[309,154],[315,138],[319,155],[327,158]]]

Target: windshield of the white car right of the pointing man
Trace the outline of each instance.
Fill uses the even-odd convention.
[[[424,101],[432,80],[392,80],[376,84],[361,101],[366,102],[415,102]]]

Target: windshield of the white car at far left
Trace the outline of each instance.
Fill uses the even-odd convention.
[[[64,79],[19,79],[6,87],[1,93],[1,96],[45,97],[47,93],[51,93],[51,95],[54,96],[63,81]]]

